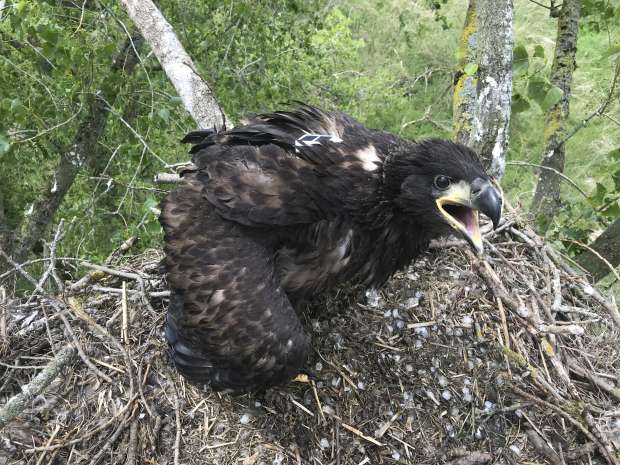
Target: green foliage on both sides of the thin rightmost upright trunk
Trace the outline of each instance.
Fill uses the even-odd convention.
[[[519,34],[517,25],[509,155],[512,159],[539,163],[545,137],[542,133],[543,113],[562,98],[561,89],[549,82],[553,61],[553,43],[549,39],[554,37],[552,27],[555,20],[537,21],[534,7],[529,6],[529,12],[527,5],[517,3],[519,7],[526,13],[522,21],[527,23],[528,34]],[[608,97],[617,60],[614,52],[620,32],[617,26],[619,13],[611,2],[588,0],[583,3],[568,134]],[[612,21],[614,18],[615,22]],[[547,235],[569,252],[580,252],[574,241],[589,243],[620,214],[620,186],[617,182],[620,163],[615,155],[620,147],[620,133],[612,116],[617,115],[619,109],[617,96],[612,96],[607,109],[611,119],[593,118],[566,142],[566,173],[586,191],[588,197],[584,198],[576,189],[564,184],[563,207],[553,218]],[[509,170],[504,186],[513,199],[523,202],[521,199],[532,191],[535,180],[534,176],[524,176],[523,168],[519,166]],[[537,221],[546,219],[538,218]]]

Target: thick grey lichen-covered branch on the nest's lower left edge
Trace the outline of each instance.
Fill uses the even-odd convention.
[[[66,346],[62,349],[51,363],[41,371],[30,383],[22,386],[22,392],[0,408],[0,430],[4,428],[13,418],[18,416],[28,408],[32,400],[41,394],[49,384],[56,379],[61,370],[73,362],[76,350],[73,346]]]

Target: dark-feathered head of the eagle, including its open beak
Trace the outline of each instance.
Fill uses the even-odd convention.
[[[429,237],[457,231],[477,253],[483,250],[479,214],[497,227],[499,185],[464,145],[432,139],[403,147],[384,165],[384,189],[396,207]]]

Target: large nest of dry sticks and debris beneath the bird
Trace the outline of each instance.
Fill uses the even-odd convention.
[[[0,412],[67,345],[61,315],[112,383],[74,357],[0,430],[0,463],[617,465],[613,302],[509,223],[483,260],[431,250],[376,304],[343,289],[310,308],[308,379],[261,395],[174,370],[158,252],[117,259],[64,298],[9,302]]]

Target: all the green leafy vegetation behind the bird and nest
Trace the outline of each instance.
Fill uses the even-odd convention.
[[[158,246],[163,188],[151,179],[163,165],[153,153],[168,163],[187,160],[178,140],[193,122],[147,49],[130,77],[110,78],[113,57],[133,31],[118,2],[96,10],[59,3],[19,0],[0,20],[0,196],[8,225],[23,224],[58,154],[72,149],[93,96],[116,87],[97,146],[106,163],[81,171],[56,215],[67,222],[59,254],[102,260],[133,235],[142,248]],[[188,0],[161,7],[234,120],[297,99],[407,138],[450,137],[466,2]],[[617,59],[609,50],[620,40],[617,5],[586,1],[584,14],[569,127],[605,99]],[[510,160],[540,161],[544,99],[536,86],[548,78],[555,30],[548,10],[515,1]],[[547,233],[562,247],[570,248],[568,239],[590,242],[620,213],[617,99],[607,114],[567,143],[566,174],[589,198],[563,185],[564,208]],[[525,208],[535,181],[533,168],[508,166],[503,186]]]

